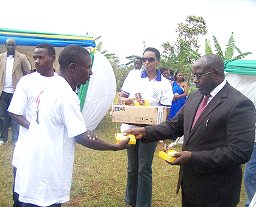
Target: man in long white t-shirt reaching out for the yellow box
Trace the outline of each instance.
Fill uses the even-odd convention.
[[[60,73],[38,94],[21,149],[15,192],[23,207],[61,206],[68,202],[76,142],[95,150],[122,150],[129,138],[111,144],[87,130],[74,90],[90,79],[91,56],[70,45],[59,56]]]

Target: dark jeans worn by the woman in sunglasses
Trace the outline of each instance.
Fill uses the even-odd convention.
[[[140,139],[127,149],[127,186],[125,202],[150,207],[152,200],[152,162],[158,142],[143,144]]]

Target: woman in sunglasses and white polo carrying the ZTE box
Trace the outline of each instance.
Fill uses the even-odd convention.
[[[141,93],[142,98],[148,99],[151,106],[164,105],[167,114],[173,98],[171,83],[158,71],[160,52],[148,47],[141,58],[144,69],[129,73],[129,79],[124,80],[119,100],[126,105],[134,105],[135,94]],[[168,115],[167,115],[168,117]],[[121,132],[127,128],[137,127],[133,124],[123,123]],[[151,206],[152,200],[152,161],[158,142],[148,145],[137,141],[136,145],[127,150],[127,186],[125,202],[130,207]]]

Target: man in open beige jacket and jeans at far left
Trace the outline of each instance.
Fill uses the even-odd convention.
[[[5,42],[7,52],[0,54],[0,146],[8,142],[9,113],[7,108],[12,100],[16,84],[23,75],[30,73],[26,55],[16,52],[16,41]],[[12,141],[18,140],[19,125],[12,119]]]

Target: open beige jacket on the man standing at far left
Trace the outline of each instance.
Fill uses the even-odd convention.
[[[0,54],[0,96],[5,82],[6,58],[7,52]],[[12,69],[12,85],[14,90],[20,78],[29,73],[30,68],[26,55],[15,52]]]

